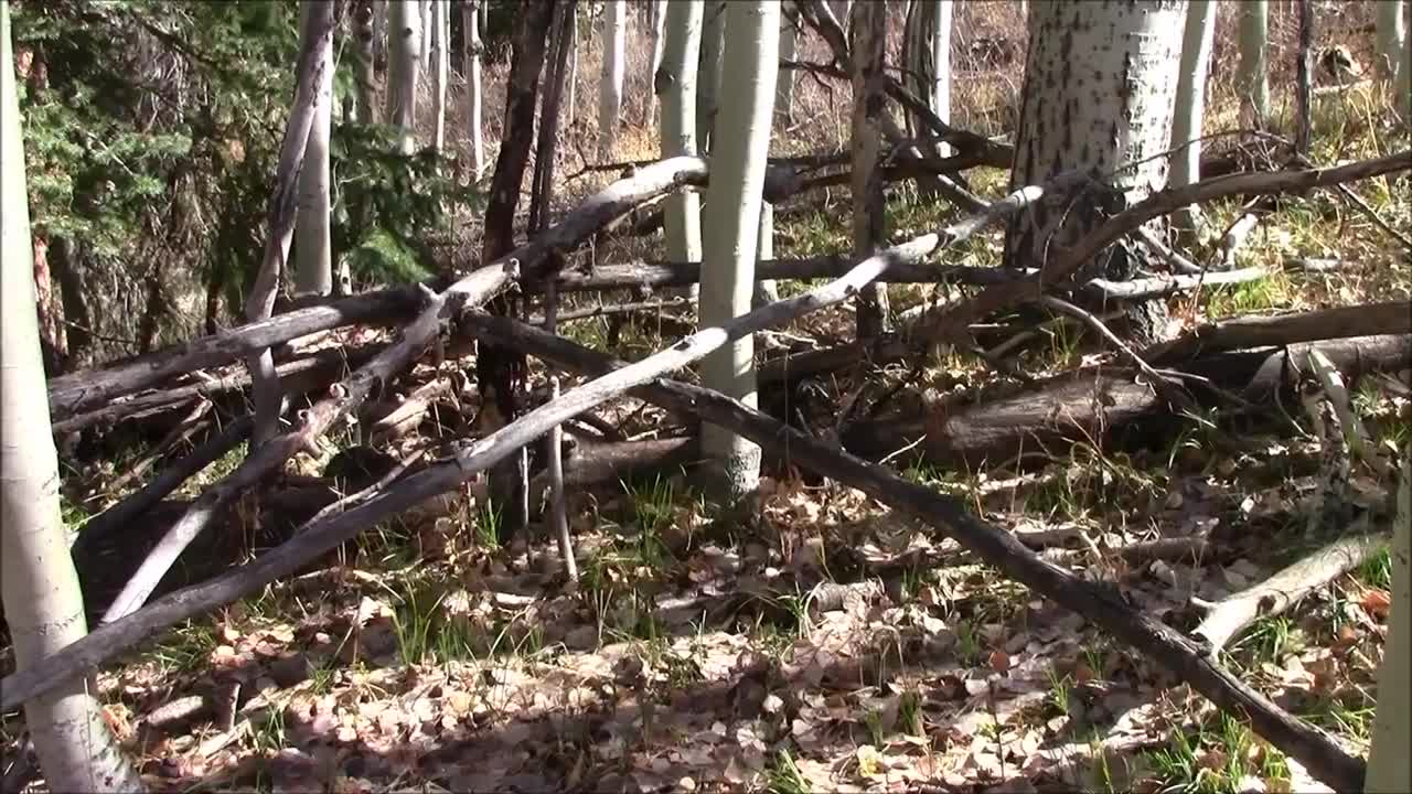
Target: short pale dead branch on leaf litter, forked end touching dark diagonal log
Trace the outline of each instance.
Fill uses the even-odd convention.
[[[1206,643],[1207,656],[1214,663],[1226,644],[1257,619],[1285,612],[1309,593],[1357,568],[1387,543],[1388,535],[1384,534],[1341,537],[1264,582],[1214,603],[1193,598],[1192,603],[1207,615],[1192,636]]]

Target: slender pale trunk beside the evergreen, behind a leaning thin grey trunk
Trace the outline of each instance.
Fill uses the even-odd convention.
[[[308,17],[315,3],[333,0],[302,0],[299,16]],[[309,30],[301,23],[301,31]],[[302,47],[301,47],[302,48]],[[323,51],[319,73],[313,126],[304,147],[299,168],[299,215],[294,225],[294,291],[299,295],[328,295],[333,291],[333,244],[329,237],[329,136],[333,133],[333,48]]]

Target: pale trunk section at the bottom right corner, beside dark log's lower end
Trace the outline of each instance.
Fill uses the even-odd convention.
[[[1412,791],[1412,444],[1404,446],[1398,513],[1388,550],[1392,603],[1378,667],[1378,708],[1368,752],[1367,794]]]

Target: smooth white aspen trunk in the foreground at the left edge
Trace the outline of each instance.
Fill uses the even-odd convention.
[[[0,599],[16,670],[30,670],[88,634],[88,622],[59,514],[20,136],[10,4],[0,3]],[[96,677],[75,678],[24,704],[48,791],[145,790],[96,691]]]

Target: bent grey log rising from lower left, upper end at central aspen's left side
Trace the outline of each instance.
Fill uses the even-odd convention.
[[[425,308],[415,321],[402,328],[401,338],[380,352],[369,363],[330,390],[304,414],[299,427],[264,441],[254,454],[230,475],[212,485],[192,503],[191,510],[167,533],[151,551],[123,592],[113,600],[103,622],[109,623],[137,610],[145,603],[152,588],[182,550],[205,530],[210,519],[225,510],[237,496],[275,472],[299,449],[312,448],[318,438],[340,417],[356,411],[391,377],[405,370],[436,338],[443,318],[456,316],[477,307],[508,287],[522,271],[538,274],[549,257],[559,250],[580,244],[603,225],[626,215],[642,201],[679,186],[689,177],[703,177],[705,161],[695,157],[664,160],[642,168],[630,178],[620,179],[599,194],[589,196],[544,235],[510,251],[505,257],[472,271],[441,294],[424,290]],[[570,417],[565,417],[570,418]]]

